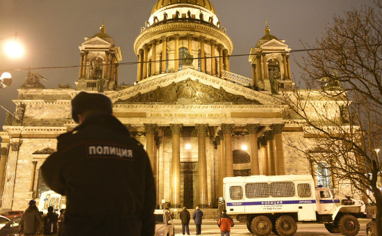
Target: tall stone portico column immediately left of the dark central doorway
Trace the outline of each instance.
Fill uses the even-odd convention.
[[[170,124],[172,131],[172,208],[181,208],[181,130],[183,124]]]

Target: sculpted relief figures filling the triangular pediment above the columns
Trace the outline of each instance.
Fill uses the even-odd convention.
[[[172,82],[165,87],[156,87],[155,90],[132,96],[126,100],[119,102],[156,102],[156,103],[216,103],[216,102],[231,102],[231,103],[253,103],[260,104],[256,100],[247,99],[244,96],[231,94],[226,92],[223,87],[219,89],[200,83],[199,80],[193,81],[191,78],[178,83]]]

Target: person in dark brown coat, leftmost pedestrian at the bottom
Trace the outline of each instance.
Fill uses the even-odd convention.
[[[38,235],[40,223],[41,214],[36,207],[36,201],[31,200],[28,203],[28,208],[22,213],[22,220],[19,224],[19,233],[24,233],[24,235]]]

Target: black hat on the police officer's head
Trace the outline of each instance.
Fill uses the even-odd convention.
[[[80,92],[72,99],[72,118],[74,121],[78,123],[78,115],[87,110],[97,110],[110,115],[113,114],[113,107],[107,96]]]

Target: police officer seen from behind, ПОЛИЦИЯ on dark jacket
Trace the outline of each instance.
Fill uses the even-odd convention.
[[[61,235],[152,236],[156,190],[142,144],[103,94],[77,94],[72,118],[78,126],[58,136],[41,167],[45,183],[67,199]]]

